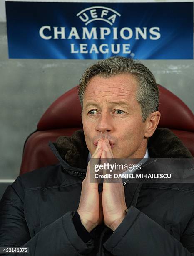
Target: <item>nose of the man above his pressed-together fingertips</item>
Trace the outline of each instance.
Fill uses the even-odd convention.
[[[109,113],[101,112],[100,117],[97,120],[97,125],[95,127],[96,131],[99,133],[111,133],[113,131],[112,118]]]

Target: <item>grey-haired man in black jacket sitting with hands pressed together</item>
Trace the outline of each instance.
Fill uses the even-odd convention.
[[[7,188],[0,246],[29,247],[36,256],[194,255],[192,184],[90,182],[90,156],[192,157],[172,132],[156,130],[152,73],[133,59],[105,59],[85,71],[79,96],[83,131],[50,143],[60,164],[24,174]]]

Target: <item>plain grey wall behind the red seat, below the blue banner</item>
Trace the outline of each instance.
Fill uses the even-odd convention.
[[[94,62],[8,59],[6,23],[0,22],[0,179],[17,177],[25,138],[36,129],[47,107],[78,84],[83,71]],[[194,60],[142,63],[153,72],[157,83],[194,111]]]

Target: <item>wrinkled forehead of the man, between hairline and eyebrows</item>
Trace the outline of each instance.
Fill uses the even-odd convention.
[[[92,77],[84,93],[84,102],[88,100],[120,99],[134,101],[137,90],[137,80],[131,74],[120,74],[114,77]]]

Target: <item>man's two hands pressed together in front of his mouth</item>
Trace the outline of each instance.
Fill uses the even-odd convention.
[[[97,148],[91,158],[114,158],[108,139],[98,141]],[[82,182],[80,204],[77,209],[80,220],[90,232],[104,221],[104,225],[113,231],[125,217],[126,203],[122,182],[103,183],[99,194],[98,184],[90,183],[90,162],[87,166],[86,177]]]

